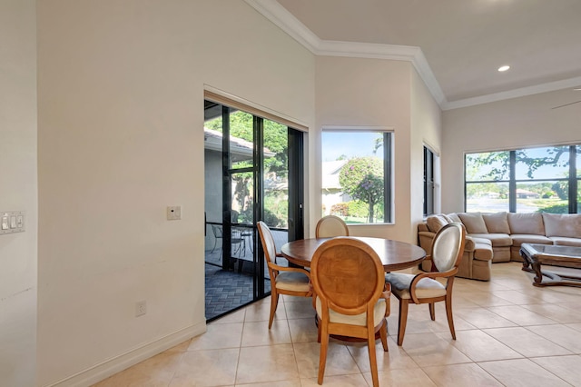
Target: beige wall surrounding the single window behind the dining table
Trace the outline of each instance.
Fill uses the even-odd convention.
[[[410,89],[413,66],[381,59],[317,57],[317,133],[315,179],[310,193],[310,223],[320,219],[320,129],[323,126],[381,126],[393,129],[395,141],[394,224],[350,226],[353,235],[413,242],[410,232]],[[312,137],[312,136],[311,136]],[[313,165],[311,165],[312,168]],[[314,232],[314,229],[311,230]]]

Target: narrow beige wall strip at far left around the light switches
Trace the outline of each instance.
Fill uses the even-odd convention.
[[[0,212],[25,211],[25,232],[0,235],[0,385],[36,372],[36,9],[0,2]]]

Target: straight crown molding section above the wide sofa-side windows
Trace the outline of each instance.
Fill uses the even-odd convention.
[[[442,110],[452,110],[461,107],[475,106],[477,104],[489,104],[491,102],[504,101],[511,98],[518,98],[527,95],[554,92],[556,90],[578,87],[581,85],[581,76],[575,78],[563,79],[547,84],[535,84],[533,86],[520,87],[518,89],[508,90],[506,92],[478,95],[477,97],[459,99],[458,101],[447,102],[440,107]]]

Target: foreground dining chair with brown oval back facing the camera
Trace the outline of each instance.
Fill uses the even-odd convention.
[[[389,284],[379,256],[369,244],[350,237],[321,243],[310,263],[314,304],[319,326],[319,384],[322,384],[329,335],[365,339],[371,379],[379,385],[375,337],[379,332],[388,351]]]

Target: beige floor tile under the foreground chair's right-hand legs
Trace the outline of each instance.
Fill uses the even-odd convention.
[[[379,371],[397,370],[402,368],[419,368],[403,348],[399,347],[394,339],[388,338],[389,352],[383,352],[383,345],[378,340],[375,345],[375,353]],[[349,343],[347,349],[357,362],[361,372],[370,372],[369,350],[366,343]]]

